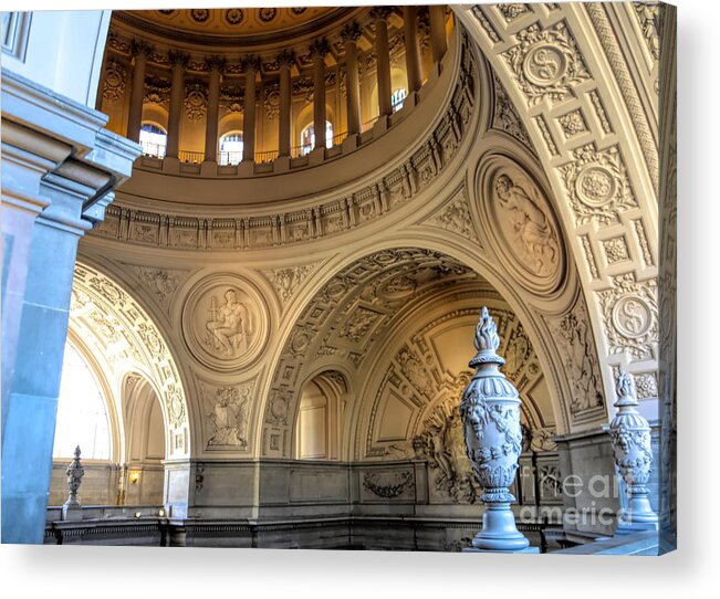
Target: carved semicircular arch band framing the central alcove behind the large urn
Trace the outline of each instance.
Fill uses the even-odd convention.
[[[394,248],[398,248],[398,250],[393,250]],[[513,290],[513,281],[508,277],[507,273],[488,261],[476,246],[469,246],[467,240],[466,243],[456,240],[449,242],[441,232],[421,230],[399,235],[396,233],[392,235],[392,239],[375,240],[372,246],[338,256],[326,264],[323,270],[324,277],[319,276],[312,284],[312,288],[305,287],[304,301],[292,316],[286,315],[290,318],[279,337],[279,351],[271,361],[270,376],[267,379],[265,389],[260,395],[262,401],[259,413],[263,416],[262,420],[258,422],[258,439],[261,441],[259,453],[264,456],[289,455],[290,417],[294,413],[294,402],[300,389],[299,382],[306,377],[303,371],[303,360],[320,358],[325,350],[323,345],[320,341],[316,343],[314,338],[319,334],[317,323],[321,320],[324,323],[326,318],[336,318],[345,309],[342,308],[333,313],[338,305],[346,301],[343,295],[346,290],[341,290],[341,287],[349,288],[348,283],[355,274],[361,273],[363,276],[363,271],[371,272],[376,269],[376,266],[368,265],[373,260],[377,260],[377,256],[383,256],[382,260],[386,260],[385,256],[392,260],[390,256],[394,252],[400,254],[409,252],[410,259],[408,260],[413,264],[421,264],[422,260],[440,261],[441,256],[445,256],[444,260],[451,262],[453,267],[468,273],[482,273],[483,277],[499,290],[525,325],[528,335],[536,347],[543,371],[552,381],[551,393],[556,408],[559,431],[570,431],[572,427],[572,402],[570,399],[572,385],[564,375],[566,362],[557,350],[551,349],[553,339],[547,323]],[[337,295],[335,288],[337,288]],[[337,301],[333,300],[335,295]],[[328,306],[323,307],[321,300],[327,302],[332,300],[332,309]],[[372,327],[372,324],[368,325],[368,330]],[[362,327],[359,329],[358,335],[363,335]],[[332,334],[335,335],[336,332]],[[315,351],[321,353],[321,356],[315,356]],[[347,350],[343,358],[351,361],[356,359],[352,350]],[[604,418],[605,406],[601,402],[595,408],[602,411]]]

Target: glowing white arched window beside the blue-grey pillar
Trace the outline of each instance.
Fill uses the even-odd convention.
[[[90,366],[71,345],[65,345],[53,458],[72,459],[80,445],[86,460],[109,460],[107,408]]]

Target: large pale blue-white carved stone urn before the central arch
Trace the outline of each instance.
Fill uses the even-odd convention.
[[[495,350],[500,338],[495,323],[483,307],[476,328],[478,350],[470,367],[477,371],[462,393],[460,416],[468,458],[484,493],[482,530],[472,546],[487,551],[522,551],[530,542],[518,530],[510,504],[521,453],[520,396],[499,370],[505,364]]]

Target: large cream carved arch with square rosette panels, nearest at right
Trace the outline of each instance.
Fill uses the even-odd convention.
[[[632,3],[505,7],[453,11],[538,150],[578,265],[573,311],[592,324],[604,395],[613,397],[618,364],[657,380],[659,57],[653,35],[633,33],[643,17]],[[664,9],[651,10],[662,21]]]

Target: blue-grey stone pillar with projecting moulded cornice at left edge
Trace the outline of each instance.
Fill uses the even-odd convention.
[[[13,305],[12,354],[2,332],[2,540],[39,544],[77,242],[103,220],[139,146],[103,129],[101,113],[11,72],[2,77],[2,198],[44,204],[30,229],[12,230],[6,227],[13,224],[18,203],[2,206],[3,263],[12,266],[8,276],[24,284],[21,305]],[[3,308],[17,288],[3,281]],[[3,327],[4,319],[3,309]]]

